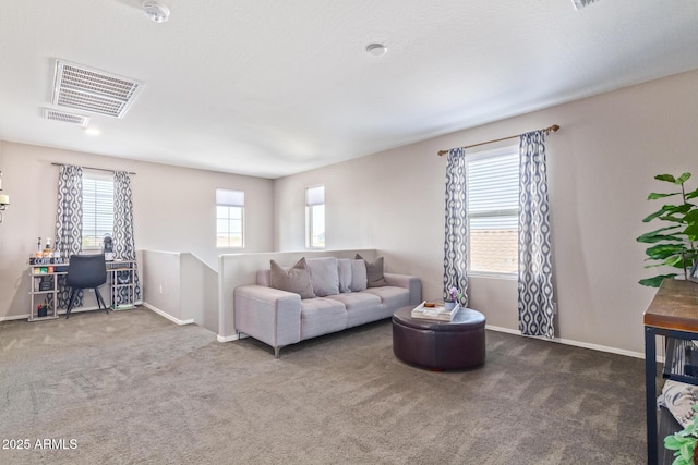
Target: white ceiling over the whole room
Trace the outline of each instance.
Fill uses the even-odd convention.
[[[163,2],[0,0],[0,139],[278,178],[698,68],[698,0]],[[56,59],[145,87],[89,136]]]

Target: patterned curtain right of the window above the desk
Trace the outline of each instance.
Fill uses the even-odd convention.
[[[133,200],[131,195],[131,178],[125,171],[113,173],[113,252],[115,256],[124,260],[135,260],[135,241],[133,237]],[[115,277],[119,282],[129,280],[128,271],[117,271]],[[130,286],[118,287],[112,297],[112,305],[130,304],[141,299],[139,273],[134,265],[133,279],[135,295],[129,295]]]

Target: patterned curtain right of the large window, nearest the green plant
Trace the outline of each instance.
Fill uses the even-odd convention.
[[[519,146],[519,330],[553,339],[553,267],[542,131],[522,134]]]

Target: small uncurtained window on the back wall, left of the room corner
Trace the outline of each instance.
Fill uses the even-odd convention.
[[[244,192],[216,189],[216,247],[244,247]]]

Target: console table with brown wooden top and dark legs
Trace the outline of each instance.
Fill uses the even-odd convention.
[[[666,338],[666,359],[663,377],[698,384],[698,377],[685,372],[686,341],[698,340],[698,284],[690,281],[666,279],[645,310],[645,382],[647,392],[647,462],[650,465],[666,462],[670,456],[659,443],[657,421],[657,341]],[[662,436],[662,438],[660,438]],[[667,455],[669,454],[669,455]],[[671,463],[671,460],[666,463]]]

